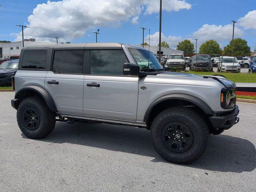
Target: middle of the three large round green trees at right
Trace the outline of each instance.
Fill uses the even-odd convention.
[[[217,41],[209,40],[199,48],[200,54],[221,54],[220,44]]]

